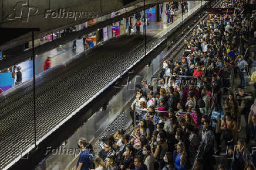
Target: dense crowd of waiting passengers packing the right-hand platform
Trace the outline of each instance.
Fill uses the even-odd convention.
[[[77,169],[255,169],[256,100],[244,89],[247,75],[256,83],[256,56],[247,49],[255,44],[256,20],[241,14],[243,3],[223,1],[236,13],[201,21],[184,40],[181,62],[163,61],[157,86],[146,79],[136,85],[132,134],[120,129],[101,138],[96,157],[80,138]],[[237,94],[230,88],[235,75]],[[238,134],[242,115],[244,139]],[[214,155],[223,150],[216,164]]]

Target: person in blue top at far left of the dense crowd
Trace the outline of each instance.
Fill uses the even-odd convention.
[[[78,146],[81,148],[82,152],[80,153],[78,163],[76,164],[76,170],[89,170],[90,169],[90,158],[89,158],[89,149],[86,148],[86,141],[79,140]]]

